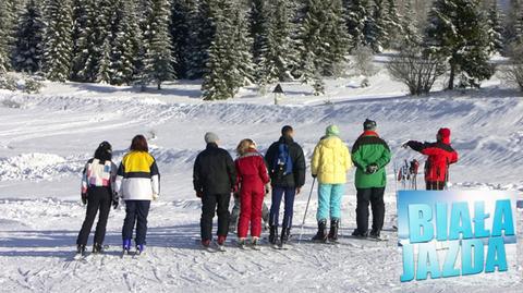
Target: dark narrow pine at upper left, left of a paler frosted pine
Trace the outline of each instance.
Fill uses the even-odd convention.
[[[35,73],[40,70],[44,22],[41,13],[29,0],[21,15],[16,30],[16,42],[13,52],[13,66],[16,71]]]

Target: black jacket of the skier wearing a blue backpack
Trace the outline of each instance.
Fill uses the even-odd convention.
[[[275,172],[275,160],[278,157],[280,144],[287,144],[289,146],[289,156],[292,161],[292,173],[278,179]],[[302,147],[294,143],[290,136],[281,136],[278,142],[272,143],[267,154],[265,155],[265,161],[267,169],[269,170],[270,184],[276,187],[292,188],[302,187],[305,184],[305,156],[303,155]]]

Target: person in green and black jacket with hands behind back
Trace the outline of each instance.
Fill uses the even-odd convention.
[[[353,236],[376,237],[384,228],[384,194],[387,185],[385,167],[390,161],[390,148],[376,133],[376,122],[365,120],[364,132],[352,147],[352,161],[356,166],[356,224]],[[373,209],[373,229],[368,234],[368,204]]]

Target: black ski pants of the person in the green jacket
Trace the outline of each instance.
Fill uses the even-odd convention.
[[[357,188],[356,224],[361,234],[368,231],[368,204],[373,209],[373,231],[380,232],[385,219],[385,187]]]

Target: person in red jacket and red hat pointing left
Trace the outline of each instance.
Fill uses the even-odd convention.
[[[442,191],[449,180],[449,166],[458,161],[458,152],[450,145],[450,130],[440,129],[436,143],[409,141],[403,145],[428,156],[425,162],[425,184],[427,191]]]

